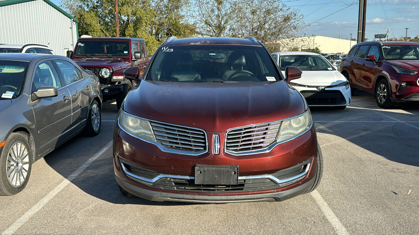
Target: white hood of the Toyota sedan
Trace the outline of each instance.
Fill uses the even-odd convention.
[[[285,76],[285,72],[282,72]],[[338,71],[303,71],[301,78],[294,79],[292,82],[306,85],[329,86],[346,82],[347,79]]]

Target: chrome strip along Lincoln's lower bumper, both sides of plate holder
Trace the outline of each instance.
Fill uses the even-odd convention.
[[[144,177],[137,176],[137,175],[134,175],[132,173],[129,173],[127,171],[127,169],[125,168],[124,163],[122,163],[122,162],[120,162],[120,163],[121,163],[122,171],[124,171],[124,174],[126,174],[127,176],[130,176],[130,178],[134,178],[134,179],[137,179],[137,180],[145,181],[147,183],[152,183],[153,184],[153,183],[159,181],[162,178],[171,178],[171,179],[195,179],[194,176],[179,176],[179,175],[166,175],[166,174],[160,174],[160,175],[154,177],[153,179],[147,179],[147,178],[144,178]],[[277,177],[272,176],[272,175],[239,176],[238,179],[239,180],[242,180],[242,179],[270,179],[270,180],[272,180],[273,182],[275,182],[277,184],[283,184],[283,183],[286,183],[288,181],[292,181],[292,180],[298,179],[298,178],[300,178],[302,176],[305,176],[308,173],[308,171],[310,171],[310,166],[311,166],[311,163],[308,163],[307,164],[307,167],[305,168],[305,171],[303,173],[298,174],[296,176],[292,176],[291,178],[288,178],[288,179],[278,179]]]

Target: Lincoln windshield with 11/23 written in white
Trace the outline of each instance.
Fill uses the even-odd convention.
[[[172,82],[263,82],[280,79],[263,46],[161,47],[147,80]]]

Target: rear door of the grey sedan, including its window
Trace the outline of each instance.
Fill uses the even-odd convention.
[[[83,73],[76,68],[74,64],[67,60],[54,60],[67,89],[71,95],[72,106],[72,133],[76,133],[80,128],[85,127],[90,104],[91,86],[88,79],[85,79]]]

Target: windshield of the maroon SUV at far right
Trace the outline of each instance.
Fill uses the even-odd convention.
[[[419,45],[385,45],[382,48],[386,60],[419,58]]]

